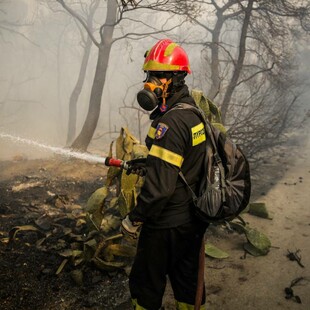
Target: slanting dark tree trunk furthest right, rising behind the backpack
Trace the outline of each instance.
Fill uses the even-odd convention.
[[[233,92],[237,86],[238,79],[239,79],[239,76],[240,76],[240,73],[241,73],[241,70],[243,67],[243,62],[244,62],[245,53],[246,53],[246,37],[247,37],[248,27],[249,27],[249,23],[250,23],[250,17],[252,14],[253,2],[254,2],[254,0],[249,0],[248,6],[245,9],[245,16],[244,16],[244,20],[243,20],[243,24],[242,24],[241,35],[240,35],[239,56],[238,56],[237,63],[235,65],[235,69],[234,69],[232,78],[228,84],[228,87],[227,87],[227,90],[226,90],[226,93],[224,96],[224,100],[223,100],[222,105],[221,105],[221,113],[222,113],[223,124],[225,124],[226,115],[227,115],[228,107],[230,104],[230,100],[231,100],[232,94],[233,94]]]

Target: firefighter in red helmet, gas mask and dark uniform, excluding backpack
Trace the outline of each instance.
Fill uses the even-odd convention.
[[[137,205],[121,225],[122,232],[134,238],[141,229],[129,276],[131,298],[136,310],[160,309],[168,276],[176,308],[194,309],[206,226],[192,212],[192,195],[179,171],[197,191],[206,135],[198,115],[175,108],[178,103],[195,106],[185,84],[191,71],[184,49],[169,39],[160,40],[145,54],[143,70],[146,80],[137,100],[152,111],[146,138],[149,154]]]

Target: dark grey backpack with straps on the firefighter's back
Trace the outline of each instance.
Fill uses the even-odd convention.
[[[205,125],[206,155],[204,173],[198,194],[187,183],[182,171],[179,175],[193,196],[196,216],[203,222],[230,221],[248,205],[251,195],[249,162],[238,145],[205,117],[199,106],[179,103],[176,109],[190,109]]]

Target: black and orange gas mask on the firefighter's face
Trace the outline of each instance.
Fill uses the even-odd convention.
[[[143,89],[137,94],[140,107],[146,111],[152,111],[158,105],[165,107],[166,97],[168,96],[167,90],[171,82],[172,80],[169,79],[163,84],[159,78],[148,73]]]

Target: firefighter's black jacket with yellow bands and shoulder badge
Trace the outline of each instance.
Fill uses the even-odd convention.
[[[195,191],[203,171],[206,135],[199,116],[189,109],[171,109],[177,103],[195,106],[187,86],[168,100],[169,109],[153,120],[146,145],[146,176],[132,221],[153,228],[170,228],[193,220],[192,195],[181,178],[182,170]]]

